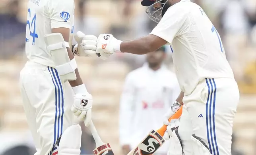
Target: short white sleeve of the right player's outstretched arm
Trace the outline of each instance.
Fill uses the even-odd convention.
[[[187,26],[182,26],[188,17],[188,11],[175,5],[170,7],[161,21],[152,30],[150,34],[158,36],[169,43],[173,42],[173,38],[184,33]]]

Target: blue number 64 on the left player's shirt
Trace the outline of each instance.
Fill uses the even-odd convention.
[[[35,45],[35,38],[38,38],[38,35],[35,32],[35,24],[36,24],[36,14],[34,15],[32,21],[30,22],[29,20],[31,19],[31,10],[28,9],[27,10],[28,13],[28,18],[27,18],[27,25],[28,25],[28,30],[26,32],[26,42],[30,42],[29,37],[32,36],[33,40],[32,40],[32,45]],[[34,25],[33,25],[34,24]],[[27,35],[29,33],[29,36]],[[28,38],[27,38],[28,36]]]

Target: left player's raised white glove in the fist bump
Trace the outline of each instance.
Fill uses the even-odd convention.
[[[76,44],[72,48],[72,52],[75,56],[81,57],[97,57],[96,45],[97,37],[93,35],[85,35],[83,32],[78,31],[74,36]]]

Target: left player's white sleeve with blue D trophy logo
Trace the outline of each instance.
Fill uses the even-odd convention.
[[[49,5],[51,28],[72,28],[74,0],[52,0]]]

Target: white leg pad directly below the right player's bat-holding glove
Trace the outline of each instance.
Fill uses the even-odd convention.
[[[171,143],[170,143],[170,147],[169,147],[169,151],[168,151],[167,155],[182,155],[183,154],[182,142],[178,135],[178,131],[173,130],[172,135],[173,136],[170,139]]]

